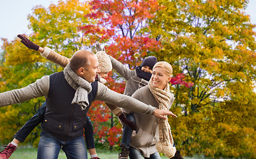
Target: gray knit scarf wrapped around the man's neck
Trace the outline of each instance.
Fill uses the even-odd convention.
[[[70,64],[64,68],[64,77],[68,84],[76,90],[72,104],[77,103],[82,111],[89,105],[88,93],[92,91],[92,85],[86,79],[80,78],[71,68]]]

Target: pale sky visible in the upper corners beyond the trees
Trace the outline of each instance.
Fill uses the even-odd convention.
[[[58,3],[58,0],[1,0],[0,2],[0,38],[14,40],[17,34],[29,34],[29,21],[27,16],[32,13],[36,5],[48,7],[51,3]],[[251,23],[256,24],[256,0],[249,0],[245,12],[251,17]],[[256,29],[255,29],[256,31]],[[3,42],[0,40],[0,46]],[[1,48],[0,48],[1,49]]]

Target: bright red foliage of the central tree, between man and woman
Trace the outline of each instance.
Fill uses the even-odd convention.
[[[90,41],[105,42],[107,54],[113,56],[130,69],[141,63],[149,52],[157,52],[160,42],[149,37],[147,20],[153,18],[155,11],[159,9],[157,0],[92,0],[90,2],[92,12],[86,15],[89,21],[95,25],[80,26],[84,34],[90,36]],[[115,81],[109,73],[107,87],[118,93],[123,93],[125,81]],[[111,118],[109,109],[103,103],[92,105],[88,113],[94,121],[94,131],[97,138],[109,142],[111,146],[117,144],[121,135],[121,128],[107,127],[105,123]]]

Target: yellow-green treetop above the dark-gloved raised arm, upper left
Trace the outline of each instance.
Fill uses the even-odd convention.
[[[82,34],[78,26],[88,22],[84,15],[90,13],[88,3],[79,0],[58,1],[48,9],[36,6],[29,15],[29,28],[36,40],[62,55],[71,57],[77,50],[90,49],[90,37]]]

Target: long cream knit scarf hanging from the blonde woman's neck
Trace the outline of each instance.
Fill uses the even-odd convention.
[[[153,93],[157,103],[159,103],[159,109],[168,110],[168,105],[173,97],[170,93],[170,86],[168,83],[164,90],[157,87],[153,87],[152,81],[149,81],[149,89]],[[163,153],[168,158],[172,158],[176,152],[175,146],[173,146],[172,133],[170,131],[170,125],[168,119],[159,119],[159,142],[156,144],[157,151]]]

